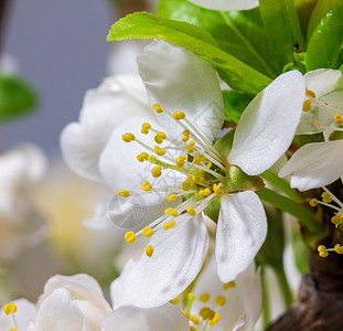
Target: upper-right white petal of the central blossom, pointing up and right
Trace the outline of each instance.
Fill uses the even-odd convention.
[[[270,168],[293,139],[304,96],[306,83],[300,72],[276,78],[243,113],[227,161],[250,175]]]

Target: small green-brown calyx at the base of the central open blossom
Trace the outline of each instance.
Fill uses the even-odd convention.
[[[265,188],[259,175],[248,175],[237,166],[228,166],[223,181],[225,193],[258,191]]]

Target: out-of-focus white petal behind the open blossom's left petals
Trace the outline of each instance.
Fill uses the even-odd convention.
[[[79,122],[66,126],[61,135],[65,162],[76,173],[101,181],[98,159],[111,131],[137,114],[152,116],[147,93],[138,76],[107,78],[85,95]]]

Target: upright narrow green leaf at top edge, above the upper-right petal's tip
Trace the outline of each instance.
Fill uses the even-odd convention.
[[[260,0],[259,10],[272,51],[283,65],[293,62],[294,45],[304,51],[293,0]]]

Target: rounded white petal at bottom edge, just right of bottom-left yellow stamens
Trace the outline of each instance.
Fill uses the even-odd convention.
[[[64,288],[55,289],[41,305],[35,331],[90,331],[76,300]]]

